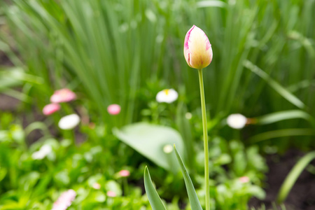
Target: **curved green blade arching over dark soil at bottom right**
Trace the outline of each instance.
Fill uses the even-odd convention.
[[[297,162],[288,176],[286,176],[286,179],[283,181],[276,199],[277,202],[282,203],[284,200],[286,200],[286,197],[288,196],[288,193],[290,193],[290,190],[293,187],[295,181],[300,176],[305,167],[309,165],[309,162],[311,162],[313,159],[315,159],[315,151],[307,153],[307,155],[304,155],[304,157]]]

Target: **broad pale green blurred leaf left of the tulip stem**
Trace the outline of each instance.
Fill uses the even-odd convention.
[[[179,170],[174,153],[163,151],[165,146],[170,147],[172,151],[173,144],[176,144],[182,148],[181,152],[183,152],[181,135],[171,127],[134,123],[120,130],[114,129],[113,133],[118,139],[155,162],[156,165],[172,172]]]

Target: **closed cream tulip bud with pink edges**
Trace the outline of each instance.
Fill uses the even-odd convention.
[[[203,69],[212,61],[212,48],[202,29],[193,25],[185,36],[184,55],[188,66]]]

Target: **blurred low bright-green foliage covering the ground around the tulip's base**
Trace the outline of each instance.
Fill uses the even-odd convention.
[[[73,144],[71,139],[57,141],[46,132],[39,141],[27,146],[27,133],[38,128],[48,129],[34,126],[34,130],[26,132],[14,123],[12,114],[1,113],[1,209],[50,209],[60,193],[69,188],[77,193],[71,206],[74,209],[150,209],[143,183],[139,182],[145,165],[152,165],[151,173],[162,199],[173,200],[167,204],[167,209],[179,209],[179,199],[188,202],[184,184],[179,179],[180,172],[169,174],[148,159],[137,160],[140,154],[118,144],[111,134],[97,132],[102,127],[81,127],[81,132],[93,138],[82,144]],[[43,158],[34,158],[34,153],[44,145],[49,145],[52,151]],[[211,179],[211,197],[217,209],[244,209],[252,196],[265,196],[259,186],[266,166],[256,147],[245,149],[239,141],[227,144],[218,137],[210,152],[213,160],[210,162],[211,177],[214,177]],[[201,173],[191,176],[197,186],[197,195],[202,197],[203,165],[198,157],[197,162],[194,163],[195,171]],[[121,169],[128,169],[131,176],[119,176]],[[241,176],[248,177],[248,181],[242,183]],[[99,183],[99,189],[94,188],[94,183]],[[109,191],[117,196],[109,197],[106,195]],[[239,198],[243,202],[239,202]]]

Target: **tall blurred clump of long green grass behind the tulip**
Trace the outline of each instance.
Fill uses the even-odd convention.
[[[139,120],[137,110],[144,104],[137,97],[147,80],[189,89],[182,100],[192,110],[198,107],[191,79],[197,77],[182,71],[188,67],[180,50],[183,31],[193,24],[205,29],[216,52],[214,71],[204,75],[214,120],[235,111],[259,116],[293,109],[268,80],[248,70],[248,61],[314,116],[307,109],[314,105],[307,88],[314,85],[314,1],[13,1],[1,8],[10,29],[9,35],[1,33],[6,43],[1,49],[44,80],[25,89],[36,95],[65,85],[79,89],[91,99],[94,115],[109,125]],[[106,112],[109,104],[122,107],[116,120]],[[296,120],[278,127],[302,125]]]

